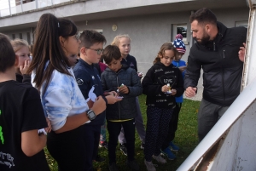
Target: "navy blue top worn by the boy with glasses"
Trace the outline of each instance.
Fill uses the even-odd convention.
[[[85,100],[88,98],[88,93],[92,86],[95,87],[94,93],[96,94],[96,96],[102,95],[102,97],[105,99],[105,97],[103,96],[101,77],[99,76],[98,71],[93,65],[89,65],[84,60],[79,59],[79,63],[77,63],[76,66],[74,66],[73,68],[73,73],[76,77],[77,83],[79,84],[79,88],[84,95]],[[102,125],[104,123],[104,120],[105,111],[103,111],[102,114],[98,115],[95,120],[86,124]]]

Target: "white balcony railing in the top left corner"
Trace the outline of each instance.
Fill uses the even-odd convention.
[[[73,0],[0,0],[0,18]]]

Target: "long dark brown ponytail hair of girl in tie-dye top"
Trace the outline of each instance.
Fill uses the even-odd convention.
[[[33,83],[40,90],[46,82],[43,94],[48,88],[50,77],[54,70],[71,76],[67,70],[69,65],[67,54],[65,54],[59,37],[71,37],[77,33],[77,27],[72,21],[57,19],[53,14],[43,14],[35,31],[35,43],[33,47],[33,57],[29,73],[35,71]],[[49,65],[46,66],[47,61]]]

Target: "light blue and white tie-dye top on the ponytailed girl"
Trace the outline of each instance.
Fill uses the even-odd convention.
[[[67,117],[80,114],[89,109],[76,82],[73,70],[71,68],[67,70],[72,76],[67,76],[56,70],[53,71],[44,97],[42,97],[42,92],[45,83],[40,89],[44,114],[49,117],[54,131],[64,126]],[[32,72],[32,85],[35,87],[35,83],[33,83],[34,77],[35,72]]]

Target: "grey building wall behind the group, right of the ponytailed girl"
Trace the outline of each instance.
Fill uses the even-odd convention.
[[[218,20],[227,27],[235,26],[236,21],[248,20],[247,9],[217,9],[213,10]],[[187,24],[188,42],[187,52],[183,60],[188,59],[190,41],[190,11],[166,14],[150,14],[133,17],[113,18],[107,20],[86,20],[76,23],[79,30],[102,29],[103,35],[107,38],[107,45],[113,41],[113,37],[119,34],[129,34],[131,37],[131,54],[137,58],[138,70],[144,73],[152,65],[154,57],[160,46],[166,42],[172,42],[172,25]],[[87,25],[86,25],[87,23]],[[117,25],[117,31],[112,31],[112,26]]]

